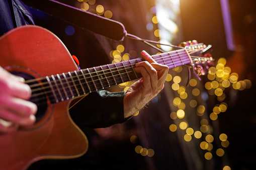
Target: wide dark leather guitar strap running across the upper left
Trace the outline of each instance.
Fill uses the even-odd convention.
[[[93,33],[122,41],[126,30],[122,23],[83,11],[54,0],[22,0],[27,6],[40,10]]]

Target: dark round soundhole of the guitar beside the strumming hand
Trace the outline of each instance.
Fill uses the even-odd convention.
[[[35,79],[33,76],[31,76],[27,73],[24,73],[24,72],[12,71],[11,73],[14,75],[23,77],[25,80]],[[32,97],[29,99],[29,101],[31,101],[37,105],[38,110],[36,113],[36,121],[39,121],[43,118],[43,116],[45,115],[45,113],[48,109],[47,98],[44,93],[44,90],[42,89],[41,85],[38,84],[38,82],[33,81],[33,82],[29,82],[27,84],[30,85],[31,90],[32,90]]]

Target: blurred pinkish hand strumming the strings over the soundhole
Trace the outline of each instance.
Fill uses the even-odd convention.
[[[0,67],[0,133],[35,122],[37,106],[27,101],[30,97],[31,89],[24,79]]]

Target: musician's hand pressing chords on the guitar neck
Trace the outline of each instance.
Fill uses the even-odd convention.
[[[134,70],[143,78],[135,82],[126,91],[124,97],[124,116],[129,117],[143,108],[164,87],[168,67],[156,63],[145,51],[141,52],[146,60],[136,64]]]

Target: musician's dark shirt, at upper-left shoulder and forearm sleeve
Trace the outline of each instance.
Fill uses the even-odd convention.
[[[19,0],[0,0],[0,35],[23,25],[35,25],[26,5]],[[124,96],[125,92],[93,92],[69,109],[70,116],[78,126],[92,128],[123,123]]]

